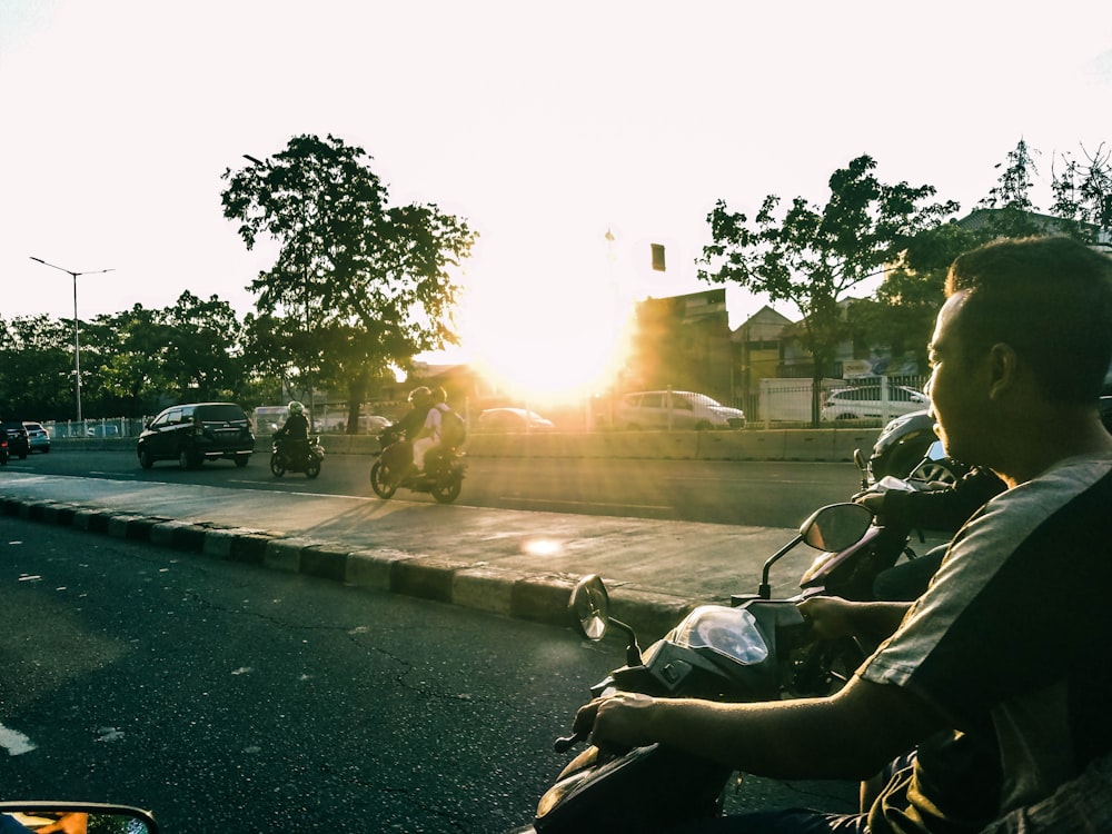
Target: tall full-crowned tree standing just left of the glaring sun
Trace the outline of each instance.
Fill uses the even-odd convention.
[[[459,287],[451,272],[476,238],[436,205],[388,206],[369,159],[332,136],[297,136],[266,162],[226,171],[221,195],[225,217],[240,222],[248,249],[262,235],[278,244],[274,267],[249,289],[264,316],[301,322],[305,338],[276,335],[276,348],[285,347],[302,371],[342,377],[349,433],[366,380],[457,342],[450,314]]]

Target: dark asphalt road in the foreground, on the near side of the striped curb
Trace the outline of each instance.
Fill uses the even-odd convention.
[[[137,804],[171,833],[507,831],[622,661],[566,629],[11,517],[0,605],[6,798]],[[747,780],[727,803],[852,793]]]

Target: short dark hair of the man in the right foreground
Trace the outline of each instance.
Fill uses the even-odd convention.
[[[1112,361],[1112,258],[1066,237],[997,240],[960,256],[946,296],[966,356],[1010,345],[1043,393],[1095,403]]]

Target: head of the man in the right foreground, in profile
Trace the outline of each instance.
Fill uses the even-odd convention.
[[[1033,405],[1095,405],[1112,359],[1112,259],[1068,238],[1001,240],[954,261],[946,296],[930,393],[950,455],[992,466],[1002,429]]]

